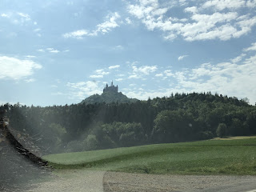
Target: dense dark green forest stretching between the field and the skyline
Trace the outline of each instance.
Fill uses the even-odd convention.
[[[46,153],[256,134],[256,106],[222,94],[171,94],[131,103],[1,106],[10,127]]]

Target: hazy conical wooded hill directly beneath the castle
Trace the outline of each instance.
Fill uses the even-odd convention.
[[[121,92],[113,92],[113,91],[108,91],[105,93],[102,93],[101,95],[99,94],[94,94],[91,95],[90,97],[82,100],[80,104],[94,104],[96,102],[105,102],[105,103],[111,103],[111,102],[119,102],[119,103],[131,103],[131,102],[137,102],[138,99],[136,98],[127,98],[126,95],[122,94]]]

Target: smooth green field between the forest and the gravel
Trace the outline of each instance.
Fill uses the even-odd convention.
[[[256,138],[124,147],[43,157],[56,169],[146,174],[256,174]]]

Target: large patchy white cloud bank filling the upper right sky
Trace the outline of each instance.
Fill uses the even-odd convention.
[[[182,37],[189,42],[206,39],[226,41],[248,34],[256,25],[255,17],[250,18],[250,14],[243,17],[242,11],[234,11],[246,8],[246,1],[243,0],[200,1],[198,6],[184,9],[188,18],[170,17],[167,12],[171,7],[163,7],[157,0],[146,3],[138,0],[134,4],[128,3],[127,10],[148,30],[162,31],[166,40]],[[208,14],[205,14],[205,8],[210,10]],[[222,13],[224,9],[227,11]]]

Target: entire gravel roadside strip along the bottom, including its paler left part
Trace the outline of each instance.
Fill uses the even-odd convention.
[[[156,175],[105,172],[99,170],[59,170],[48,182],[30,186],[26,192],[163,192],[163,191],[250,191],[256,189],[255,176]],[[255,190],[256,191],[256,190]]]

